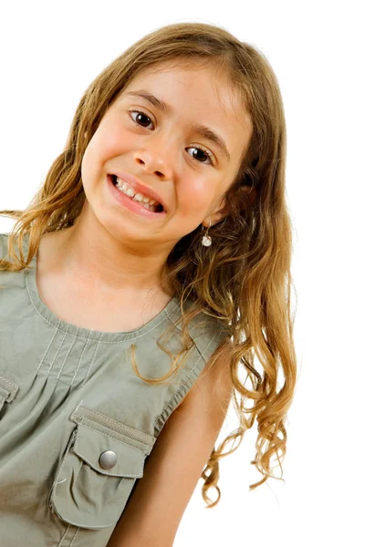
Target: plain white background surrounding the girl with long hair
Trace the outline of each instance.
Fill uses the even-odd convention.
[[[287,200],[295,229],[299,366],[287,421],[286,483],[268,480],[248,491],[261,479],[250,465],[254,427],[235,454],[220,462],[222,499],[213,510],[204,509],[199,481],[174,547],[363,541],[361,4],[1,3],[1,209],[26,207],[63,149],[91,80],[155,28],[179,21],[224,26],[261,50],[279,80],[287,117]],[[0,218],[0,232],[9,232],[13,222]],[[219,440],[236,425],[231,408]]]

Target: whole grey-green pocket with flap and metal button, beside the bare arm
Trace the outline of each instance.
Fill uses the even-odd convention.
[[[89,408],[78,408],[78,416],[72,416],[78,425],[57,470],[49,506],[74,526],[106,528],[119,520],[155,439]]]

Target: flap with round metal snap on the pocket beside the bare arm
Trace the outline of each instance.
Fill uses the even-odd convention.
[[[143,475],[145,453],[123,440],[116,439],[96,428],[90,428],[82,422],[78,424],[74,452],[78,457],[89,463],[89,466],[99,473],[113,477],[136,477]],[[110,469],[103,467],[104,452],[110,450]],[[105,456],[104,456],[105,459]],[[115,461],[115,463],[113,463]]]

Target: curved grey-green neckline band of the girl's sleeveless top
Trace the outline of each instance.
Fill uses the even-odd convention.
[[[27,239],[28,238],[26,238],[26,243]],[[40,294],[38,293],[38,288],[36,285],[36,255],[37,252],[33,256],[28,267],[25,269],[27,293],[33,307],[36,309],[37,314],[41,315],[47,323],[53,325],[57,328],[57,330],[65,334],[72,335],[77,338],[98,340],[99,342],[122,342],[124,340],[131,340],[150,333],[158,325],[164,323],[169,316],[172,316],[173,312],[176,314],[178,308],[180,308],[180,299],[177,298],[177,296],[173,296],[170,302],[165,305],[159,314],[152,317],[152,319],[144,325],[141,325],[140,327],[128,332],[98,331],[68,323],[54,314],[52,310],[43,302]]]

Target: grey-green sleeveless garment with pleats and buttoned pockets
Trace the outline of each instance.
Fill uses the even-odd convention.
[[[9,260],[7,238],[0,257]],[[174,297],[133,331],[81,328],[42,302],[36,256],[21,272],[0,272],[1,546],[107,545],[166,420],[225,335],[214,318],[204,315],[203,328],[194,318],[185,363],[151,385],[136,375],[130,346],[141,376],[162,377],[171,359],[156,340],[180,314]],[[174,355],[183,347],[175,328],[162,340]]]

